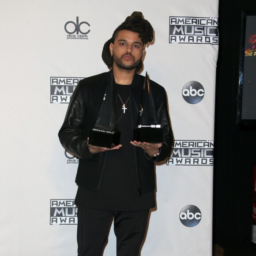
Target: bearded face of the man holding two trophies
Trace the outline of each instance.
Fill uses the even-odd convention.
[[[113,55],[113,66],[125,70],[132,70],[139,66],[144,49],[139,33],[129,30],[117,32],[114,43],[109,45],[110,54]]]

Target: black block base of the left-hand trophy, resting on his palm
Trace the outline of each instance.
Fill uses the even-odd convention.
[[[104,130],[93,128],[89,134],[90,145],[112,148],[119,145],[120,132],[118,130]]]

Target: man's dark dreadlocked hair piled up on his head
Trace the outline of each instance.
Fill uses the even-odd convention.
[[[105,42],[102,50],[102,60],[108,66],[108,68],[113,67],[113,58],[109,52],[110,43],[114,43],[117,38],[117,33],[120,30],[130,30],[132,32],[139,33],[139,38],[143,44],[147,44],[147,42],[151,42],[153,40],[153,28],[151,24],[142,18],[142,12],[134,11],[131,16],[128,16],[125,21],[116,28],[113,33],[112,38]],[[142,62],[140,62],[139,66],[136,68],[136,71],[139,71],[142,68]]]

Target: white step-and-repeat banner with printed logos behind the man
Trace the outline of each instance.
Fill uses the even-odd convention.
[[[156,166],[157,207],[141,255],[210,256],[218,0],[0,4],[0,254],[77,255],[79,159],[57,133],[79,80],[108,71],[105,41],[142,11],[155,37],[141,74],[165,87],[175,141]],[[104,255],[115,252],[112,226]]]

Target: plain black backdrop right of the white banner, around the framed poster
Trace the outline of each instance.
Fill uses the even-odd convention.
[[[236,125],[242,10],[256,11],[256,0],[219,1],[213,204],[213,243],[219,245],[251,239],[256,129]]]

